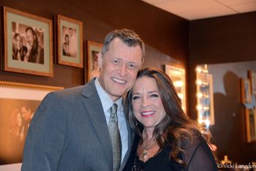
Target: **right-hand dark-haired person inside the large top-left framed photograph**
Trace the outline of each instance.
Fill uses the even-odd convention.
[[[39,45],[37,34],[33,28],[26,28],[26,39],[28,41],[28,53],[24,61],[44,64],[44,49]]]

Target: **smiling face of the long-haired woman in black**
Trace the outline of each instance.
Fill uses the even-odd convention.
[[[166,113],[154,78],[144,76],[135,81],[132,107],[135,117],[145,128],[154,128],[162,121]]]

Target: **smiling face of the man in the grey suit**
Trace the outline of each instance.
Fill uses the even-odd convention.
[[[140,45],[128,47],[119,38],[110,42],[104,56],[99,53],[99,83],[114,102],[132,88],[141,59]]]

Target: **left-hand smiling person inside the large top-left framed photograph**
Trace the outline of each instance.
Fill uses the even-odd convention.
[[[23,46],[20,34],[15,33],[13,36],[12,59],[24,61],[27,52],[28,49],[26,46]]]

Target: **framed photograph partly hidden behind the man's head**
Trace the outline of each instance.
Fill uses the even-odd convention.
[[[98,54],[102,44],[87,41],[87,70],[85,69],[85,80],[89,81],[93,77],[99,76]],[[86,77],[87,75],[87,77]]]

